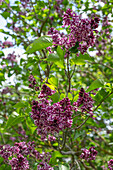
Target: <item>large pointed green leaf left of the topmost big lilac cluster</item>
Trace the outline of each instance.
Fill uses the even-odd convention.
[[[34,53],[49,46],[52,46],[52,38],[49,36],[42,36],[27,47],[25,54]]]

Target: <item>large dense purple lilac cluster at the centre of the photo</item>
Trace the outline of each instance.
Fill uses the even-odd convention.
[[[53,91],[46,85],[42,86],[39,101],[32,102],[31,117],[37,126],[37,133],[41,139],[45,140],[47,135],[59,133],[60,130],[72,125],[72,110],[70,100],[62,99],[60,102],[51,104],[47,96],[52,95]]]

